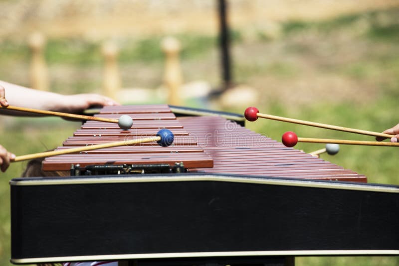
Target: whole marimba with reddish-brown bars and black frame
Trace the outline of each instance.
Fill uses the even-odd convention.
[[[398,186],[367,184],[244,128],[238,115],[148,105],[104,107],[98,116],[121,114],[133,118],[130,130],[87,121],[57,149],[161,128],[174,144],[53,156],[43,170],[72,176],[12,179],[11,262],[266,265],[399,255]]]

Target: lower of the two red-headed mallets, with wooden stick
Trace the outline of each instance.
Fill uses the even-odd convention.
[[[294,132],[291,131],[284,133],[283,136],[281,137],[281,141],[287,147],[293,147],[298,142],[336,143],[336,144],[352,144],[352,145],[368,145],[368,146],[399,146],[399,142],[379,142],[379,141],[298,137]]]

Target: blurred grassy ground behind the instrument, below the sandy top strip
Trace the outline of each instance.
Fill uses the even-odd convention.
[[[262,113],[382,132],[399,123],[398,17],[399,10],[393,9],[326,21],[286,21],[281,24],[278,39],[259,32],[257,39],[248,41],[245,32],[234,30],[235,79],[259,90],[257,107]],[[185,79],[202,77],[217,86],[216,37],[192,33],[177,37],[183,44]],[[119,41],[119,63],[125,83],[147,88],[161,83],[161,39],[162,36],[153,36]],[[46,60],[52,90],[65,94],[98,92],[103,63],[100,47],[99,43],[82,39],[50,39]],[[4,67],[0,68],[0,79],[27,86],[28,60],[25,43],[3,40],[0,61]],[[253,104],[245,103],[249,105]],[[244,109],[243,106],[228,111],[243,113]],[[79,123],[58,118],[5,122],[0,119],[0,143],[17,155],[56,147],[79,127]],[[248,122],[247,127],[274,139],[280,139],[286,131],[303,137],[371,139],[267,120]],[[308,143],[296,146],[306,152],[321,147]],[[322,158],[366,175],[371,183],[399,185],[398,156],[395,147],[341,145],[337,155],[324,154]],[[23,162],[13,163],[6,173],[0,174],[0,266],[8,265],[10,257],[8,181],[20,176],[23,168]],[[297,258],[296,263],[380,266],[399,265],[399,258],[304,257]]]

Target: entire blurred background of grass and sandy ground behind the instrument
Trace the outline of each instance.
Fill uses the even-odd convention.
[[[106,39],[120,47],[123,86],[157,88],[164,67],[160,42],[173,34],[183,46],[185,81],[203,80],[218,88],[215,1],[167,2],[1,0],[5,18],[0,27],[0,79],[29,86],[26,34],[41,30],[47,36],[45,59],[51,91],[102,93],[101,45]],[[399,123],[397,1],[229,3],[234,80],[259,92],[256,105],[262,113],[371,131]],[[118,12],[122,15],[115,18]],[[101,15],[103,20],[98,19]],[[216,101],[203,106],[203,102],[190,100],[185,105],[242,113],[255,103],[232,107]],[[57,118],[1,117],[0,122],[1,145],[18,155],[56,147],[79,127],[79,123]],[[276,121],[259,120],[247,127],[274,139],[285,131],[306,137],[370,139]],[[303,143],[297,148],[310,152],[321,146]],[[391,147],[342,145],[339,154],[322,157],[368,176],[369,182],[399,184],[398,155]],[[0,265],[8,265],[10,256],[8,181],[18,177],[24,165],[14,163],[0,174]],[[296,264],[399,265],[399,259],[303,257]]]

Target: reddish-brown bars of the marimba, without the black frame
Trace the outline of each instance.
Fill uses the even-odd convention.
[[[129,114],[133,118],[135,123],[131,129],[121,131],[113,124],[87,121],[64,141],[63,147],[57,149],[150,136],[161,128],[168,128],[174,133],[175,143],[168,149],[147,143],[143,145],[149,145],[148,148],[125,146],[48,157],[43,162],[43,170],[65,171],[70,169],[71,164],[173,165],[182,161],[189,172],[367,181],[364,175],[287,148],[220,116],[176,118],[166,105],[105,107],[95,116],[115,119],[121,114]]]

